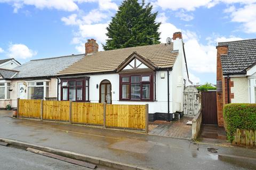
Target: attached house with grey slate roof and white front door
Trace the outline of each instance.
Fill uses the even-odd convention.
[[[5,74],[2,74],[3,70],[0,70],[6,81],[5,88],[3,88],[6,94],[5,101],[9,101],[12,107],[17,107],[17,98],[55,98],[57,100],[59,82],[57,73],[83,56],[84,54],[31,60],[13,70],[6,70]],[[6,106],[2,104],[1,107]]]

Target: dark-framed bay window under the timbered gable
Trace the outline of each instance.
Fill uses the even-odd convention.
[[[120,100],[153,100],[153,74],[120,75]]]

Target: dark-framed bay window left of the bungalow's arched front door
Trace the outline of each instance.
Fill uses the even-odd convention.
[[[61,100],[89,101],[89,79],[62,79]]]

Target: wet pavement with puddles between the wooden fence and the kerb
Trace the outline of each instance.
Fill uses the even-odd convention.
[[[0,111],[0,137],[151,169],[256,169],[218,154],[256,158],[255,149],[195,143],[142,133],[22,120]],[[218,149],[218,153],[211,152]],[[213,149],[213,150],[215,150]],[[75,169],[75,168],[74,168]]]

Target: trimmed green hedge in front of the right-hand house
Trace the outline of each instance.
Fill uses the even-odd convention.
[[[236,129],[256,130],[256,104],[227,104],[223,115],[230,142]]]

